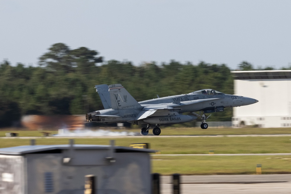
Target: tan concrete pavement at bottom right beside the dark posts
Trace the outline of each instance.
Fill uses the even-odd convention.
[[[160,177],[161,193],[173,192],[171,176]],[[180,193],[290,193],[291,175],[195,175],[180,177]]]

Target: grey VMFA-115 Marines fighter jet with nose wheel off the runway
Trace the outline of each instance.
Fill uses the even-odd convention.
[[[141,129],[142,135],[152,132],[159,135],[162,124],[178,124],[190,122],[201,117],[200,127],[207,129],[205,113],[222,112],[226,107],[245,106],[258,100],[243,96],[229,95],[212,89],[198,90],[189,94],[168,96],[137,102],[121,84],[96,85],[104,110],[86,114],[88,122],[118,123],[129,122],[136,125],[147,124]],[[194,113],[202,111],[202,115]],[[182,115],[182,113],[193,115]]]

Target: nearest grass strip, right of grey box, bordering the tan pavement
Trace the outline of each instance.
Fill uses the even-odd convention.
[[[152,157],[152,172],[162,175],[291,174],[291,156],[160,156]]]

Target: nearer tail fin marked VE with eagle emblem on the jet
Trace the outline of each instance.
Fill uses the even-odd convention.
[[[112,109],[134,109],[141,107],[121,84],[109,85],[109,94]]]

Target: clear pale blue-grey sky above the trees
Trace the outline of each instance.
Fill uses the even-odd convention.
[[[54,43],[105,60],[291,65],[291,1],[1,0],[0,61],[36,66]]]

